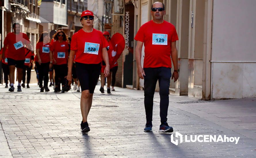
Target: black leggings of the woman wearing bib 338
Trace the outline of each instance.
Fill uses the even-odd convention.
[[[43,85],[44,87],[45,86],[48,86],[48,81],[49,81],[49,64],[50,62],[48,63],[41,63],[41,65],[39,65],[38,62],[36,62],[36,66],[37,66],[37,71],[38,71],[38,74],[39,74],[39,85]]]

